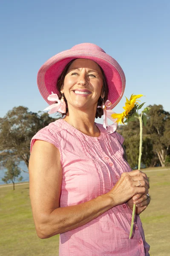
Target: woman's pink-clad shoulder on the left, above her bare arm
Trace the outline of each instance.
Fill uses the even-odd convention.
[[[40,129],[31,140],[30,151],[36,140],[43,140],[52,143],[59,148],[58,137],[60,137],[61,131],[63,131],[62,119],[58,119],[55,122],[50,123],[46,127]]]

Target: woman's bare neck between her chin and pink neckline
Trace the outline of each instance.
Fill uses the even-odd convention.
[[[88,136],[100,136],[100,131],[95,125],[95,111],[82,111],[69,108],[68,113],[63,119]]]

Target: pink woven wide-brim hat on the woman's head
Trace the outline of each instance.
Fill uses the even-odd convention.
[[[58,78],[66,64],[76,58],[95,61],[104,70],[109,87],[108,100],[112,102],[108,109],[114,108],[124,94],[126,84],[124,72],[114,58],[97,45],[90,43],[77,44],[69,50],[58,53],[40,68],[37,75],[37,84],[46,102],[49,105],[54,103],[47,98],[52,92],[59,94],[57,89]]]

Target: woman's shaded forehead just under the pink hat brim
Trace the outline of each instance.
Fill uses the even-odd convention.
[[[96,70],[98,72],[101,72],[100,67],[95,61],[89,60],[89,59],[76,59],[75,61],[72,62],[70,65],[69,69],[72,68],[88,68],[92,70]]]

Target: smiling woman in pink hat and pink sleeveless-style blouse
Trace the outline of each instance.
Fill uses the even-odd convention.
[[[49,113],[64,115],[31,142],[30,198],[37,235],[61,234],[62,256],[148,256],[138,216],[150,203],[147,175],[131,171],[116,125],[106,126],[105,118],[104,127],[95,123],[120,101],[123,70],[95,44],[79,44],[46,61],[37,83],[50,105],[57,101]],[[133,202],[137,214],[129,239]]]

